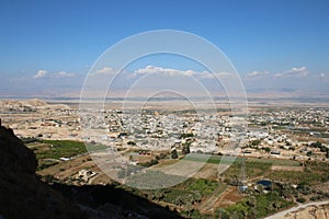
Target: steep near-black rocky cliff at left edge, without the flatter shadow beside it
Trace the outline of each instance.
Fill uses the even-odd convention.
[[[83,218],[79,208],[35,175],[35,154],[0,126],[0,215],[3,218]]]

